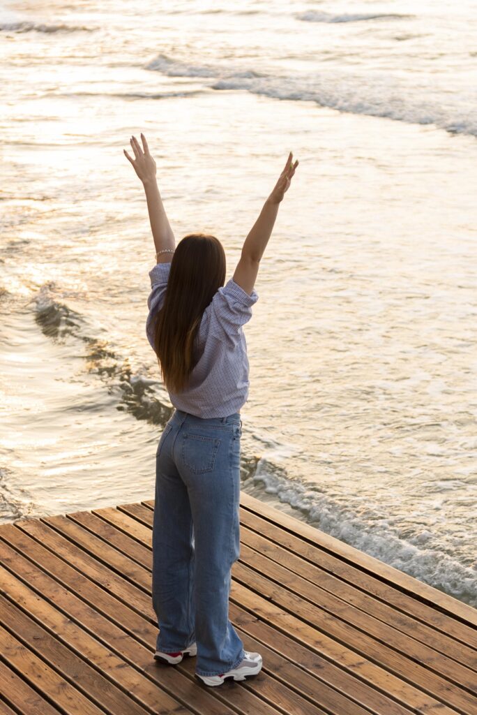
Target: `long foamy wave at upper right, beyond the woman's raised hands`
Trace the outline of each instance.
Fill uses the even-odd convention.
[[[172,77],[203,77],[213,79],[211,89],[236,89],[263,94],[273,99],[296,102],[316,102],[321,107],[349,114],[366,114],[409,124],[435,124],[451,134],[471,134],[477,137],[475,102],[456,97],[461,106],[422,99],[422,91],[398,84],[389,74],[363,78],[352,74],[324,72],[304,76],[271,77],[253,70],[211,65],[185,64],[159,55],[146,69],[160,71]]]

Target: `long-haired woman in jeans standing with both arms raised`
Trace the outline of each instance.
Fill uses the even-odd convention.
[[[159,635],[155,658],[197,656],[196,676],[209,686],[256,675],[261,655],[243,649],[229,621],[231,567],[240,554],[240,408],[248,397],[242,326],[258,300],[260,260],[298,161],[283,172],[225,283],[221,242],[203,233],[175,245],[146,137],[131,137],[144,185],[157,263],[146,334],[174,405],[156,451],[152,597]]]

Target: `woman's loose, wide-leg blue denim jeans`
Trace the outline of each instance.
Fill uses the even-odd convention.
[[[203,419],[176,409],[156,451],[156,649],[175,653],[195,641],[200,675],[224,673],[245,657],[229,621],[240,556],[240,438],[240,413]]]

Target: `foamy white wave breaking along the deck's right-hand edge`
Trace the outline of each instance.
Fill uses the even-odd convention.
[[[281,502],[298,509],[304,521],[320,531],[454,598],[477,606],[476,571],[438,548],[426,548],[426,541],[431,536],[426,529],[412,538],[400,538],[396,528],[371,509],[361,514],[353,513],[349,506],[345,507],[327,495],[321,486],[313,488],[313,485],[291,482],[286,475],[272,473],[266,460],[259,461],[256,473],[243,486],[250,492],[253,485],[264,485],[266,493],[276,494]]]

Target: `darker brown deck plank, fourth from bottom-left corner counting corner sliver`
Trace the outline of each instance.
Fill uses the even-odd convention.
[[[146,715],[146,711],[121,689],[116,687],[87,661],[74,654],[26,613],[0,596],[2,626],[11,636],[33,651],[44,663],[81,691],[86,698],[111,714],[127,712],[128,715]]]

